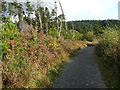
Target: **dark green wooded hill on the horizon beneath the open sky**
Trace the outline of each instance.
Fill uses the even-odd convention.
[[[82,20],[67,22],[68,29],[74,29],[81,33],[93,31],[94,34],[100,34],[106,28],[120,30],[120,20]]]

